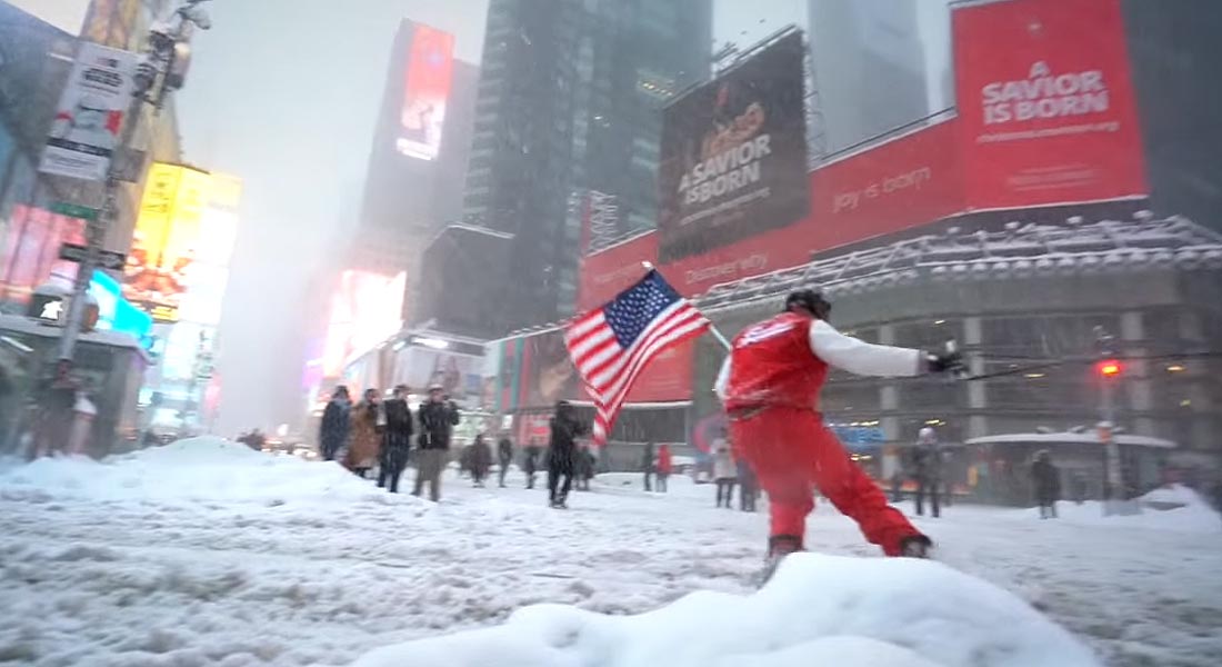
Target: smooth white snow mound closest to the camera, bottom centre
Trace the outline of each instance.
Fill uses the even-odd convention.
[[[1013,595],[930,561],[796,554],[761,591],[639,616],[541,605],[501,627],[387,646],[356,667],[1097,666]]]

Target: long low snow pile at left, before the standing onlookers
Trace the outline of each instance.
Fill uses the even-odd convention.
[[[264,504],[389,501],[385,492],[337,464],[274,456],[215,437],[182,439],[103,461],[39,459],[0,471],[0,496]]]

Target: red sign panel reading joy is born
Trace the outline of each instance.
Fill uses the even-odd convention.
[[[824,251],[963,211],[956,119],[820,166],[811,174],[808,247]]]

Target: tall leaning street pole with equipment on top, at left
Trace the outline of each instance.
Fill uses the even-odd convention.
[[[86,222],[86,253],[78,264],[76,281],[72,284],[64,334],[60,338],[59,359],[61,362],[71,363],[76,351],[76,343],[84,321],[89,281],[101,259],[106,229],[117,213],[116,196],[120,184],[125,180],[125,171],[132,166],[128,164],[130,149],[132,138],[136,136],[136,127],[141,121],[141,110],[145,102],[153,103],[160,109],[165,94],[182,86],[186,62],[189,60],[189,51],[183,47],[189,39],[192,26],[205,31],[211,27],[208,13],[198,6],[207,1],[183,0],[169,21],[156,21],[149,28],[148,47],[141,56],[133,77],[132,100],[123,115],[123,131],[119,137],[114,155],[111,155],[110,165],[106,168],[103,203],[98,214],[92,215]],[[176,65],[178,71],[175,71]],[[174,81],[170,81],[171,75],[175,75]]]

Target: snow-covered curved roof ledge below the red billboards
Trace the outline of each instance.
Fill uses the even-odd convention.
[[[831,296],[923,280],[987,280],[1042,274],[1222,269],[1222,234],[1173,215],[1063,224],[1009,223],[1003,231],[951,228],[763,275],[722,283],[697,300],[706,311],[736,310],[797,288]]]

